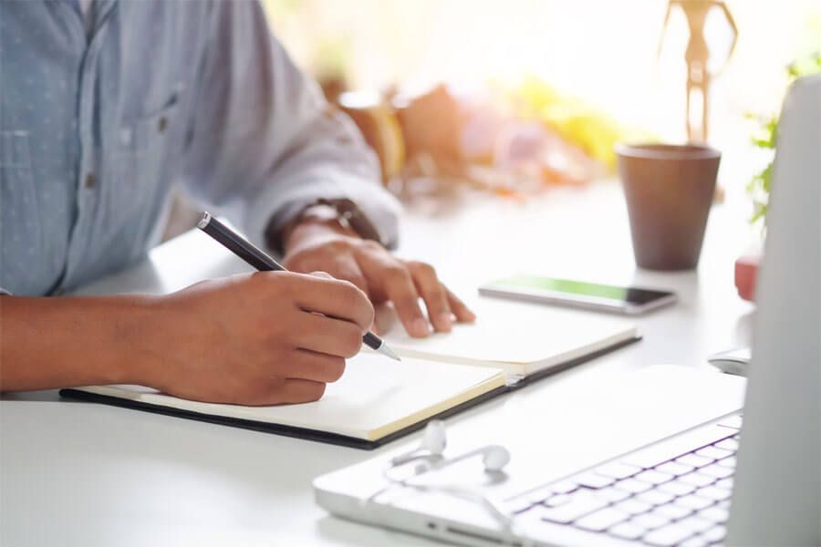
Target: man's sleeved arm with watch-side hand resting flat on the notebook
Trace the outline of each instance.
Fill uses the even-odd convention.
[[[392,302],[411,335],[427,335],[428,325],[449,331],[453,318],[473,320],[431,266],[386,251],[397,242],[398,203],[381,187],[373,153],[293,64],[260,5],[222,2],[214,10],[187,151],[193,195],[233,217],[258,244],[290,226],[282,242],[288,267],[328,272],[373,302]],[[376,228],[375,242],[316,219],[293,222],[311,203],[343,200]]]

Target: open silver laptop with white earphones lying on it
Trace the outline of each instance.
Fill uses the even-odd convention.
[[[435,446],[397,465],[392,459],[401,459],[403,448],[319,477],[319,505],[350,520],[467,545],[821,544],[821,76],[791,88],[778,139],[743,416],[718,404],[721,391],[693,389],[702,398],[678,408],[698,422],[694,427],[629,447],[619,439],[641,439],[631,437],[633,429],[651,428],[636,423],[609,438],[579,428],[545,438],[539,432],[550,430],[554,416],[518,428],[504,428],[502,417],[491,433],[526,438],[511,454],[520,460],[514,470],[504,469],[498,447],[478,450],[478,469],[478,458],[431,465],[448,461]],[[647,413],[675,405],[660,400]],[[618,405],[610,408],[618,412]],[[568,423],[584,423],[573,419]],[[597,445],[590,435],[604,440]],[[528,457],[556,439],[576,451],[557,447],[556,458],[549,450],[545,458]],[[619,455],[590,461],[608,448]],[[448,487],[465,473],[482,480],[472,489]]]

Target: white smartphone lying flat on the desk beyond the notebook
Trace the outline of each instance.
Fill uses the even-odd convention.
[[[479,294],[626,315],[643,314],[676,301],[676,295],[667,291],[530,275],[518,275],[485,284],[479,287]]]

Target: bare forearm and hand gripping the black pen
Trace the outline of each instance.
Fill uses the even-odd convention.
[[[140,384],[177,397],[316,400],[373,321],[327,275],[242,274],[165,296],[0,296],[0,391]]]

